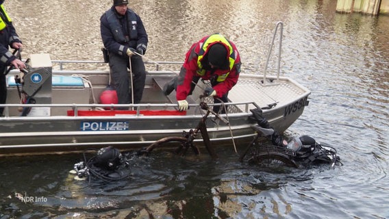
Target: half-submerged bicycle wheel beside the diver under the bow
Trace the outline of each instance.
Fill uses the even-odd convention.
[[[281,166],[299,167],[288,155],[277,152],[266,152],[253,155],[253,157],[249,159],[249,163],[257,164],[264,168],[278,168]]]

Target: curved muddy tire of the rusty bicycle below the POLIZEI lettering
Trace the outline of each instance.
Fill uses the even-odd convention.
[[[185,137],[177,137],[177,136],[172,136],[172,137],[166,137],[166,138],[161,138],[160,140],[157,140],[156,142],[153,142],[153,144],[150,144],[145,150],[142,150],[143,153],[151,153],[156,148],[162,148],[162,147],[168,147],[168,146],[176,146],[178,144],[178,147],[176,151],[179,149],[182,149],[186,145],[187,138]],[[194,153],[199,155],[200,150],[197,148],[197,146],[192,146],[192,149],[194,150]]]

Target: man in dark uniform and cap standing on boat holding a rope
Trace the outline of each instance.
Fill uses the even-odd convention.
[[[114,0],[113,3],[100,18],[101,38],[109,54],[111,87],[116,90],[118,104],[132,103],[132,97],[134,103],[140,103],[146,79],[145,63],[140,55],[147,49],[147,32],[140,16],[127,8],[128,0]],[[132,89],[127,68],[134,75]]]

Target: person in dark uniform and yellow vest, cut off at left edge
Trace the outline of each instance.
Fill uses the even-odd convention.
[[[18,60],[10,51],[12,49],[22,49],[23,44],[15,27],[12,25],[10,16],[5,12],[4,1],[0,1],[0,104],[7,101],[7,83],[5,72],[8,66],[16,69],[25,68],[25,63]],[[3,115],[4,108],[0,107],[0,116]]]

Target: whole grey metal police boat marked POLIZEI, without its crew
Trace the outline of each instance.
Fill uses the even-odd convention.
[[[274,41],[274,38],[273,38]],[[271,43],[271,45],[273,42]],[[271,48],[269,49],[271,51]],[[281,50],[280,50],[281,51]],[[269,53],[270,54],[270,53]],[[278,55],[278,58],[281,54]],[[9,70],[7,103],[0,117],[0,156],[69,153],[115,146],[139,149],[194,127],[204,114],[199,103],[209,81],[199,81],[186,99],[189,110],[179,112],[175,91],[162,88],[179,73],[181,62],[147,60],[146,86],[138,104],[118,105],[107,88],[110,71],[103,61],[51,60],[47,53],[29,55],[23,72]],[[169,69],[169,70],[164,70]],[[173,69],[173,70],[172,70]],[[245,73],[229,91],[227,112],[207,123],[214,145],[244,144],[255,133],[252,109],[261,108],[271,126],[283,133],[308,105],[310,90],[277,72]],[[213,99],[206,99],[213,106]],[[116,110],[117,107],[129,110]],[[201,145],[201,138],[196,140]]]

